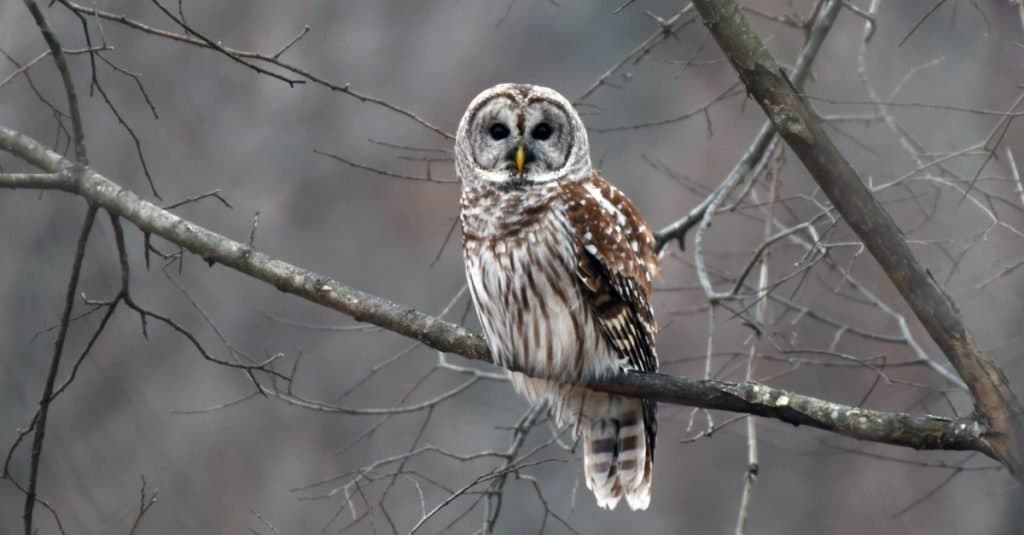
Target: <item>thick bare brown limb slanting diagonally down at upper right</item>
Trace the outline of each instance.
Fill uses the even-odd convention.
[[[778,133],[863,241],[968,384],[991,431],[990,455],[1024,477],[1024,408],[1006,375],[984,355],[945,290],[910,251],[902,232],[824,132],[764,42],[732,0],[694,0],[705,25]]]

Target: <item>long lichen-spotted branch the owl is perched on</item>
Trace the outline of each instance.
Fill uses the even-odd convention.
[[[272,284],[281,291],[415,338],[435,349],[490,362],[483,339],[461,326],[270,258],[140,199],[92,169],[74,165],[27,135],[0,126],[0,149],[52,173],[33,175],[37,181],[52,180],[52,184],[45,187],[84,197],[131,221],[142,232],[160,236],[207,261],[222,263]],[[24,186],[23,176],[0,174],[0,188]],[[755,414],[859,440],[916,449],[975,450],[992,455],[986,442],[987,427],[974,417],[950,419],[874,411],[754,382],[698,380],[665,374],[623,374],[590,386],[663,403]]]

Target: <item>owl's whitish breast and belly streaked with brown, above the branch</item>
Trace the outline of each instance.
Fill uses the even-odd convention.
[[[530,193],[495,192],[470,202],[464,194],[470,293],[498,364],[578,381],[595,374],[607,348],[580,291],[566,207],[554,189]]]

